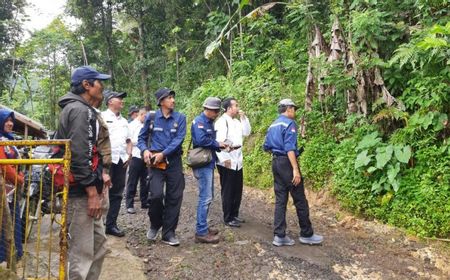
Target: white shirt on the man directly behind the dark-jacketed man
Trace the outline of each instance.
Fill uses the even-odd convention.
[[[102,118],[108,126],[112,162],[117,164],[120,159],[122,162],[127,161],[128,121],[120,114],[116,116],[109,109],[102,112]]]

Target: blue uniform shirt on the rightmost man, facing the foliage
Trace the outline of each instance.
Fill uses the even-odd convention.
[[[279,115],[267,131],[263,149],[278,156],[287,155],[289,151],[294,151],[295,156],[298,157],[297,124],[295,121],[285,115]]]

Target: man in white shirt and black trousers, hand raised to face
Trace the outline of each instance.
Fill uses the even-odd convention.
[[[222,102],[224,114],[216,121],[216,141],[228,143],[230,148],[217,154],[220,175],[223,219],[227,226],[240,227],[245,221],[239,217],[243,189],[243,138],[250,135],[251,126],[235,98]],[[239,115],[239,119],[236,117]]]

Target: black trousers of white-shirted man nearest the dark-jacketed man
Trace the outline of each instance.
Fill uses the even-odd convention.
[[[109,189],[109,210],[106,215],[106,228],[117,226],[120,203],[122,202],[123,189],[125,188],[126,168],[122,160],[117,164],[111,164],[109,176],[111,176],[112,187]]]

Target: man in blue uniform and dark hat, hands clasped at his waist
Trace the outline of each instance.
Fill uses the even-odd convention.
[[[186,116],[174,111],[173,90],[161,88],[156,91],[155,96],[159,110],[154,114],[147,114],[137,144],[144,162],[150,166],[150,229],[147,238],[156,240],[162,228],[162,242],[178,246],[180,242],[175,230],[185,186],[181,145],[186,135]]]

